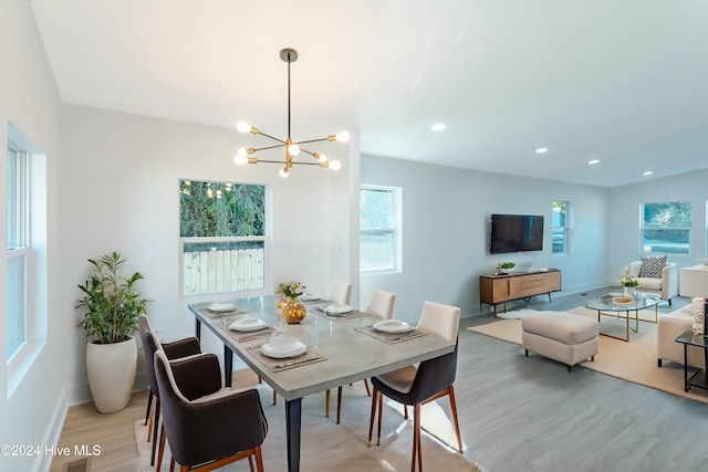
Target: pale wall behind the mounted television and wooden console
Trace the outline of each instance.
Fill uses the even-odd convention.
[[[363,306],[378,287],[396,293],[397,318],[417,321],[426,300],[459,306],[464,316],[477,314],[479,275],[509,260],[520,269],[561,269],[565,293],[608,283],[607,189],[374,156],[362,157],[361,180],[403,188],[403,272],[362,275]],[[562,258],[551,255],[554,200],[571,201],[574,208],[573,250]],[[543,214],[544,250],[490,255],[491,213]]]

